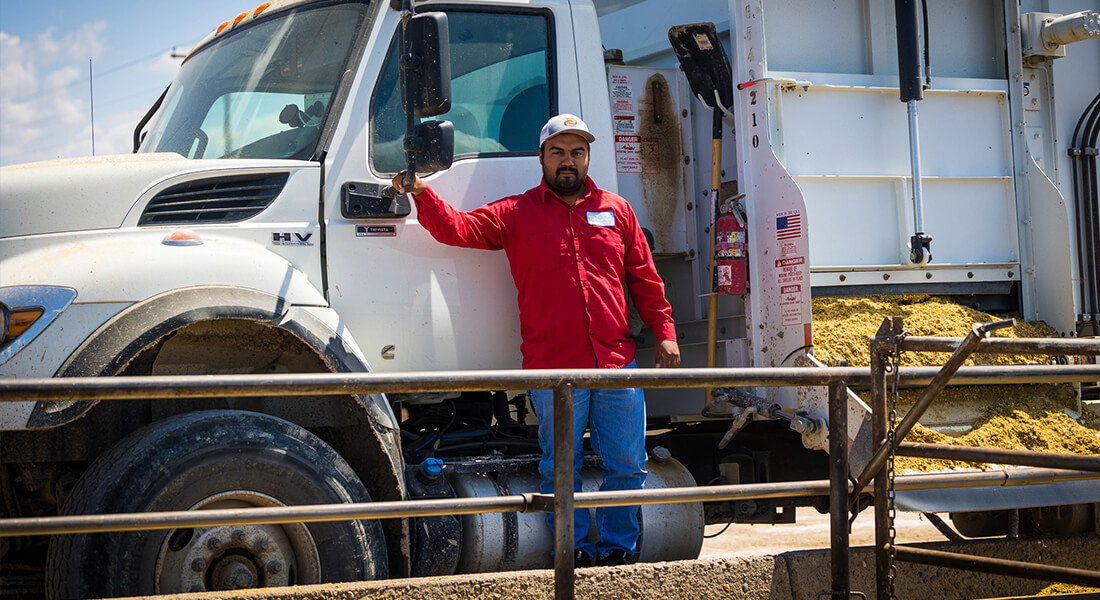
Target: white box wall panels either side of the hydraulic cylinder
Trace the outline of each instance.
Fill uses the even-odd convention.
[[[773,74],[781,75],[810,76]],[[875,85],[881,78],[851,76],[847,86],[844,79],[788,87],[776,102],[781,155],[811,215],[812,265],[909,269],[914,229],[904,105],[897,88]],[[939,86],[920,103],[934,262],[1018,262],[1008,107],[997,89],[1003,84],[942,79]]]

